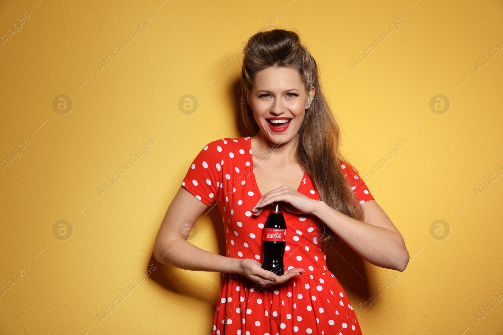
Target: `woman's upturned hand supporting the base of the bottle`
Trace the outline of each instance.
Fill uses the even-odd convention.
[[[251,258],[241,260],[239,265],[241,275],[263,287],[284,283],[304,272],[304,269],[302,268],[294,268],[287,270],[283,275],[278,276],[272,271],[264,270],[261,263]]]

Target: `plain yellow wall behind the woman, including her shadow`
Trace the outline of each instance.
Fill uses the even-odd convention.
[[[0,285],[29,270],[0,297],[0,333],[211,332],[220,274],[159,264],[154,239],[197,153],[247,135],[234,101],[242,59],[231,66],[228,57],[273,27],[301,33],[343,127],[343,150],[362,177],[374,171],[367,185],[410,253],[400,276],[342,245],[330,253],[354,309],[370,306],[359,316],[363,333],[503,332],[503,302],[486,308],[503,297],[503,176],[475,192],[503,173],[503,51],[474,65],[503,47],[501,2],[7,1],[0,34],[24,13],[22,30],[0,46],[0,158],[30,142],[0,171]],[[150,13],[147,30],[100,71]],[[401,13],[398,31],[377,45]],[[369,44],[375,50],[351,71]],[[73,101],[70,113],[53,109],[59,94]],[[186,94],[197,99],[195,113],[179,108]],[[437,94],[449,99],[447,113],[430,108]],[[124,171],[149,139],[147,155]],[[398,155],[386,156],[400,139]],[[220,218],[218,206],[202,215],[191,242],[224,255]],[[59,220],[73,228],[69,239],[53,233]],[[444,235],[430,233],[436,220],[446,222]],[[146,282],[100,320],[138,278]]]

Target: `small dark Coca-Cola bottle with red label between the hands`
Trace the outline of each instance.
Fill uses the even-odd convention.
[[[269,213],[264,225],[264,242],[262,244],[264,250],[262,268],[272,271],[278,276],[285,273],[283,255],[286,247],[286,222],[282,206],[281,202],[271,204],[271,213]]]

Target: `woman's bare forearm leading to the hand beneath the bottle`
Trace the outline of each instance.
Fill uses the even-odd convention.
[[[173,238],[159,245],[154,256],[160,263],[194,271],[240,273],[240,259],[203,250],[182,238]]]

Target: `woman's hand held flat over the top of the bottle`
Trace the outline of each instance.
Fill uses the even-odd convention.
[[[289,206],[284,206],[284,209],[291,213],[312,214],[319,200],[311,199],[288,185],[281,185],[277,189],[265,193],[251,211],[255,216],[258,216],[267,205],[278,201],[288,203]]]

